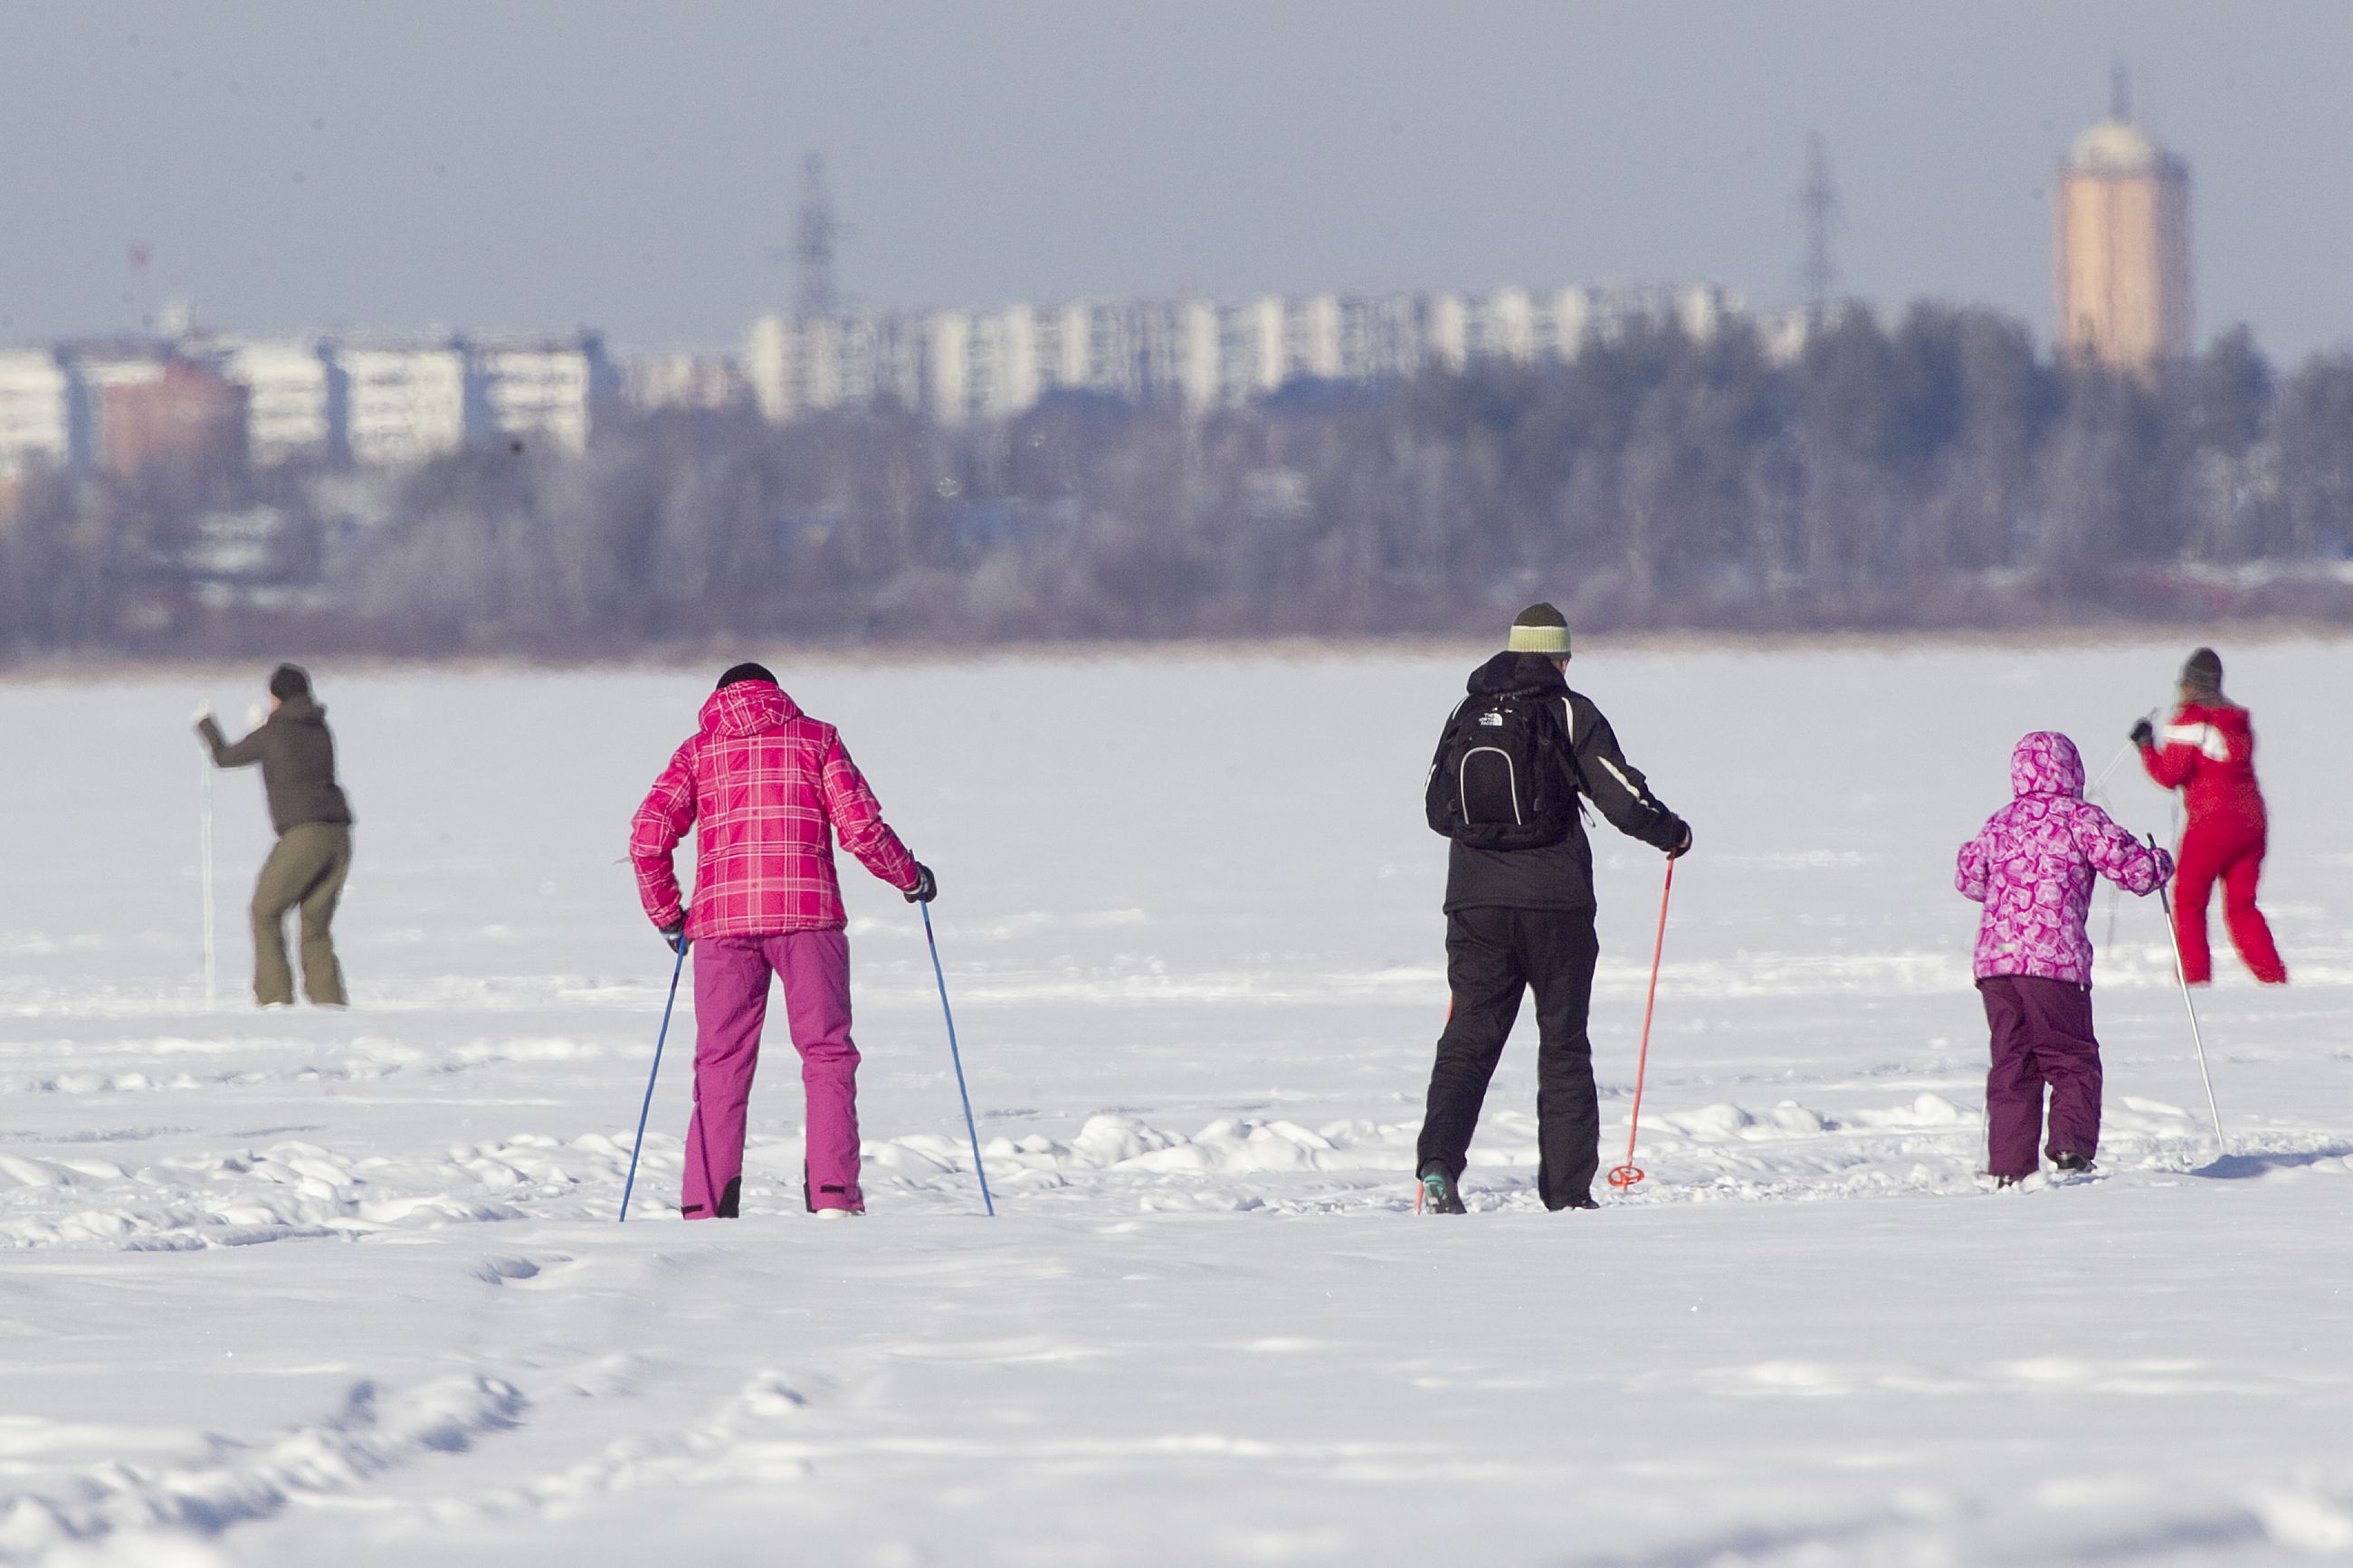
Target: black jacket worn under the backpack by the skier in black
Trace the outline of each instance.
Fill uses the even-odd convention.
[[[1471,696],[1558,696],[1562,743],[1558,762],[1569,785],[1619,832],[1652,849],[1675,849],[1689,832],[1668,811],[1642,771],[1626,762],[1609,719],[1584,693],[1569,691],[1548,654],[1497,654],[1471,672]],[[1457,708],[1459,712],[1459,708]],[[1454,729],[1452,715],[1447,731]],[[1445,755],[1445,733],[1438,750]],[[1431,762],[1435,778],[1438,762]],[[1569,820],[1569,835],[1544,849],[1471,849],[1454,844],[1447,860],[1447,914],[1454,910],[1591,910],[1593,846],[1586,844],[1584,809]]]

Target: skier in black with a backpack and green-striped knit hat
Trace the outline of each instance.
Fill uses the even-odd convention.
[[[1600,1208],[1600,1103],[1586,1039],[1600,945],[1584,802],[1671,858],[1692,846],[1689,825],[1626,762],[1609,719],[1569,691],[1567,665],[1560,611],[1522,609],[1506,651],[1471,675],[1471,696],[1431,764],[1431,827],[1454,839],[1445,903],[1454,1009],[1414,1157],[1419,1201],[1435,1213],[1464,1213],[1464,1157],[1525,987],[1537,992],[1537,1192],[1546,1208]]]

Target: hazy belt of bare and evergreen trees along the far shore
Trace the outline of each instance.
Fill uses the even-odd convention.
[[[268,527],[231,559],[221,517]],[[1654,327],[1207,416],[671,411],[400,477],[35,480],[0,649],[1381,635],[1529,597],[1595,630],[2353,618],[2348,550],[2353,355],[2280,374],[2231,331],[2144,381],[1849,308],[1788,362]]]

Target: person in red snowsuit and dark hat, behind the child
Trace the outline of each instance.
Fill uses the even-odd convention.
[[[2238,957],[2264,985],[2285,985],[2287,966],[2271,940],[2271,924],[2254,907],[2271,830],[2264,792],[2254,783],[2254,724],[2221,693],[2221,656],[2214,649],[2198,649],[2181,665],[2181,708],[2165,729],[2141,719],[2132,741],[2148,776],[2165,790],[2181,790],[2188,804],[2174,877],[2181,976],[2191,985],[2214,978],[2205,907],[2221,882],[2221,919]]]

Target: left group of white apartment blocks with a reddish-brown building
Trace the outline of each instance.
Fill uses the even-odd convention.
[[[598,334],[174,334],[0,348],[0,480],[158,458],[395,465],[494,440],[581,451],[619,395]]]

